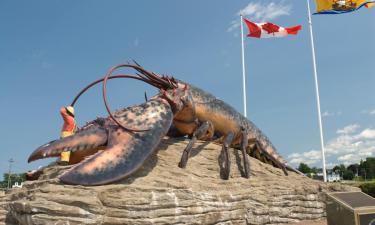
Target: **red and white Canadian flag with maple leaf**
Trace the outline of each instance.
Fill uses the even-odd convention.
[[[244,18],[244,21],[249,28],[248,37],[255,38],[270,38],[270,37],[285,37],[289,34],[296,35],[302,26],[294,27],[279,27],[273,23],[253,23]]]

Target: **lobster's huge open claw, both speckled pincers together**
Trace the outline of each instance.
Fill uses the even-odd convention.
[[[88,156],[59,177],[67,184],[101,185],[131,175],[168,132],[173,113],[167,101],[156,98],[120,110],[114,116],[128,126],[144,124],[149,129],[132,133],[112,120],[97,119],[72,136],[40,146],[30,155],[28,162],[57,157],[63,151],[71,151],[74,162]]]

